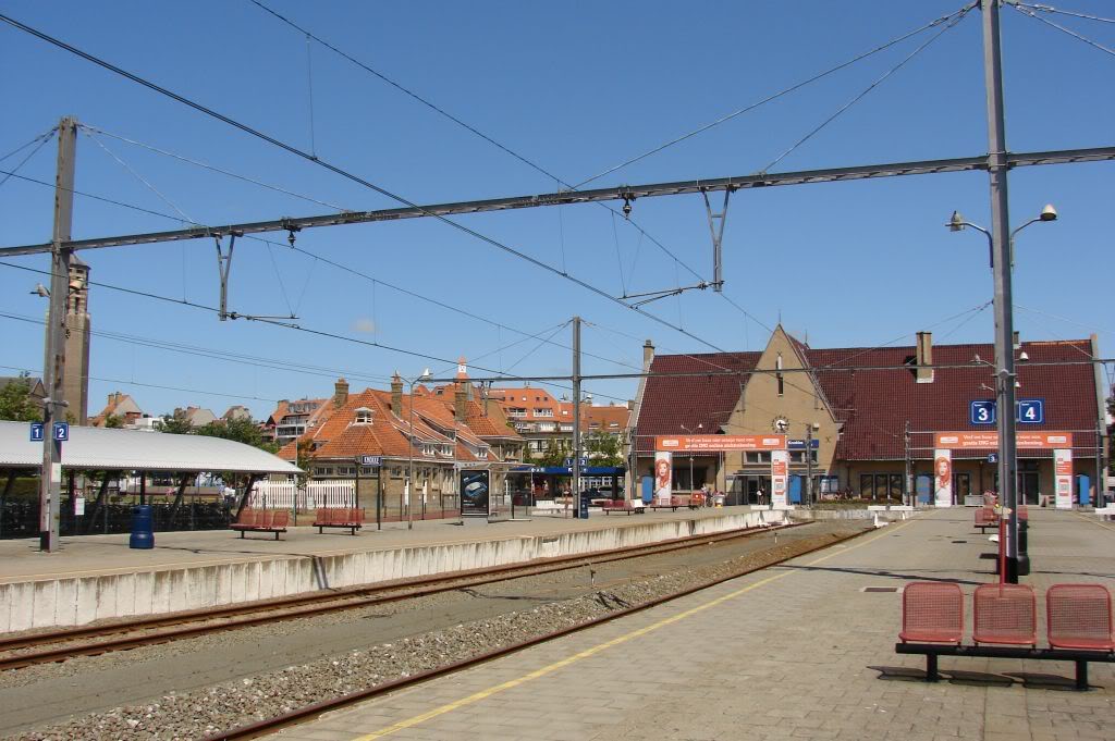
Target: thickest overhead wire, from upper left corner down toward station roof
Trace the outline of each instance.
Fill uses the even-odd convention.
[[[718,351],[721,350],[719,347],[717,347],[716,344],[709,342],[708,340],[705,340],[704,338],[700,338],[700,337],[694,334],[692,332],[689,332],[688,330],[686,330],[683,328],[676,326],[671,322],[662,319],[661,316],[652,314],[649,311],[647,311],[647,310],[644,310],[644,309],[642,309],[640,306],[632,306],[631,304],[626,303],[624,301],[618,299],[617,296],[611,295],[609,292],[607,292],[603,289],[600,289],[600,287],[593,285],[592,283],[589,283],[588,281],[585,281],[583,279],[576,277],[576,276],[574,276],[574,275],[572,275],[570,273],[564,273],[561,270],[559,270],[558,267],[554,267],[553,265],[551,265],[551,264],[549,264],[546,262],[543,262],[542,260],[539,260],[537,257],[532,257],[531,255],[526,254],[525,252],[523,252],[521,250],[517,250],[515,247],[512,247],[511,245],[505,244],[505,243],[501,242],[500,240],[496,240],[496,238],[494,238],[492,236],[488,236],[486,234],[477,232],[476,230],[474,230],[474,228],[472,228],[469,226],[465,226],[464,224],[462,224],[459,222],[456,222],[456,221],[454,221],[452,218],[448,218],[448,217],[446,217],[446,216],[444,216],[442,214],[437,214],[437,213],[430,212],[427,208],[425,208],[423,206],[419,206],[417,203],[415,203],[415,202],[413,202],[413,201],[410,201],[410,199],[408,199],[408,198],[406,198],[406,197],[404,197],[404,196],[401,196],[399,194],[396,194],[396,193],[394,193],[394,192],[391,192],[391,191],[389,191],[389,189],[387,189],[387,188],[385,188],[385,187],[382,187],[380,185],[376,185],[375,183],[372,183],[372,182],[370,182],[370,181],[368,181],[368,179],[366,179],[363,177],[360,177],[359,175],[350,173],[350,172],[343,169],[342,167],[339,167],[338,165],[333,165],[332,163],[329,163],[329,162],[327,162],[324,159],[316,157],[316,156],[313,156],[313,155],[311,155],[311,154],[309,154],[309,153],[307,153],[307,152],[304,152],[302,149],[299,149],[298,147],[295,147],[293,145],[287,144],[285,142],[282,142],[282,140],[280,140],[280,139],[278,139],[278,138],[275,138],[273,136],[270,136],[268,134],[264,134],[263,131],[261,131],[261,130],[259,130],[256,128],[253,128],[253,127],[251,127],[251,126],[249,126],[246,124],[243,124],[243,123],[241,123],[241,121],[239,121],[239,120],[236,120],[234,118],[230,118],[229,116],[225,116],[224,114],[217,113],[213,108],[210,108],[210,107],[204,106],[204,105],[202,105],[200,103],[196,103],[195,100],[191,100],[190,98],[186,98],[185,96],[182,96],[182,95],[178,95],[177,92],[168,90],[167,88],[164,88],[164,87],[162,87],[159,85],[156,85],[155,82],[152,82],[151,80],[147,80],[147,79],[145,79],[143,77],[139,77],[138,75],[129,72],[129,71],[127,71],[127,70],[125,70],[125,69],[123,69],[120,67],[117,67],[116,65],[113,65],[113,64],[110,64],[110,62],[108,62],[108,61],[106,61],[104,59],[100,59],[99,57],[96,57],[96,56],[94,56],[91,53],[83,51],[81,49],[78,49],[77,47],[74,47],[74,46],[69,45],[69,43],[62,41],[61,39],[58,39],[56,37],[52,37],[50,35],[48,35],[48,33],[45,33],[45,32],[39,31],[39,30],[35,29],[35,28],[31,28],[30,26],[27,26],[26,23],[22,23],[22,22],[16,20],[14,18],[11,18],[10,16],[6,16],[3,13],[0,13],[0,20],[4,21],[6,23],[8,23],[10,26],[13,26],[14,28],[18,28],[21,31],[25,31],[26,33],[30,33],[31,36],[35,36],[36,38],[39,38],[39,39],[41,39],[41,40],[43,40],[43,41],[46,41],[48,43],[51,43],[51,45],[58,47],[59,49],[64,49],[64,50],[72,53],[72,55],[75,55],[77,57],[80,57],[81,59],[85,59],[86,61],[93,62],[94,65],[97,65],[98,67],[107,69],[108,71],[110,71],[110,72],[113,72],[115,75],[119,75],[119,76],[122,76],[122,77],[124,77],[126,79],[132,80],[133,82],[136,82],[137,85],[146,87],[149,90],[153,90],[155,92],[158,92],[159,95],[163,95],[165,97],[171,98],[172,100],[181,103],[182,105],[184,105],[184,106],[186,106],[188,108],[193,108],[194,110],[196,110],[196,111],[198,111],[201,114],[204,114],[206,116],[215,118],[216,120],[220,120],[223,124],[226,124],[226,125],[229,125],[229,126],[231,126],[231,127],[233,127],[235,129],[239,129],[239,130],[243,131],[244,134],[253,136],[253,137],[255,137],[255,138],[258,138],[258,139],[260,139],[262,142],[266,142],[268,144],[271,144],[272,146],[275,146],[275,147],[278,147],[280,149],[283,149],[284,152],[288,152],[288,153],[290,153],[290,154],[292,154],[292,155],[294,155],[297,157],[301,157],[302,159],[306,159],[307,162],[310,162],[310,163],[312,163],[312,164],[314,164],[314,165],[317,165],[319,167],[328,169],[331,173],[340,175],[341,177],[343,177],[346,179],[349,179],[349,181],[351,181],[351,182],[353,182],[353,183],[356,183],[358,185],[361,185],[363,187],[367,187],[368,189],[375,191],[376,193],[379,193],[380,195],[382,195],[382,196],[385,196],[387,198],[396,201],[396,202],[398,202],[398,203],[400,203],[400,204],[403,204],[403,205],[405,205],[405,206],[407,206],[409,208],[414,208],[415,211],[417,211],[419,213],[423,213],[423,214],[425,214],[428,217],[433,217],[433,218],[435,218],[435,220],[437,220],[437,221],[439,221],[439,222],[442,222],[444,224],[447,224],[448,226],[450,226],[450,227],[453,227],[453,228],[455,228],[455,230],[457,230],[457,231],[459,231],[459,232],[462,232],[464,234],[467,234],[468,236],[472,236],[472,237],[474,237],[474,238],[476,238],[476,240],[478,240],[481,242],[484,242],[485,244],[488,244],[488,245],[495,247],[496,250],[500,250],[500,251],[505,252],[505,253],[507,253],[510,255],[518,257],[520,260],[523,260],[523,261],[525,261],[527,263],[531,263],[532,265],[535,265],[536,267],[539,267],[541,270],[544,270],[546,272],[550,272],[550,273],[552,273],[554,275],[559,275],[562,279],[568,280],[568,281],[574,283],[575,285],[579,285],[579,286],[583,287],[584,290],[586,290],[586,291],[589,291],[591,293],[594,293],[594,294],[597,294],[597,295],[599,295],[599,296],[601,296],[601,298],[603,298],[603,299],[605,299],[605,300],[608,300],[608,301],[610,301],[612,303],[615,303],[615,304],[618,304],[620,306],[623,306],[624,309],[628,309],[628,310],[633,311],[633,312],[636,312],[636,313],[638,313],[638,314],[640,314],[642,316],[646,316],[646,318],[650,319],[651,321],[655,321],[655,322],[657,322],[657,323],[659,323],[659,324],[661,324],[663,326],[667,326],[669,329],[675,330],[676,332],[685,334],[686,337],[690,338],[691,340],[695,340],[695,341],[697,341],[697,342],[699,342],[699,343],[701,343],[704,345],[707,345],[707,347],[709,347],[709,348],[711,348],[714,350],[718,350]]]

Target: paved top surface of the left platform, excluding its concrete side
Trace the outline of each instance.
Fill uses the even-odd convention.
[[[128,547],[127,535],[83,535],[61,538],[58,553],[39,550],[38,539],[0,540],[0,584],[51,577],[97,576],[167,568],[206,566],[285,556],[340,556],[345,554],[396,549],[407,546],[437,546],[482,540],[581,533],[646,525],[650,521],[690,520],[747,513],[749,507],[724,507],[696,511],[655,510],[641,516],[607,517],[593,513],[589,519],[561,515],[535,515],[530,521],[507,520],[485,524],[468,520],[415,520],[406,523],[367,523],[356,535],[327,528],[323,534],[310,526],[291,527],[280,540],[268,533],[249,533],[241,538],[232,530],[192,530],[156,533],[149,550]],[[312,515],[306,521],[312,521]]]

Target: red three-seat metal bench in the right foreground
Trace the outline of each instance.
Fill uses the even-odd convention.
[[[902,592],[894,651],[925,655],[925,681],[940,679],[938,656],[1032,659],[1076,664],[1088,689],[1088,662],[1115,662],[1111,593],[1101,584],[1055,584],[1046,592],[1048,649],[1037,647],[1037,601],[1019,584],[982,584],[972,595],[972,645],[963,645],[963,594],[957,584],[913,582]]]

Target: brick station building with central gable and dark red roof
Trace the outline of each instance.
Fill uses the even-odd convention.
[[[1019,432],[1069,433],[1074,498],[1083,491],[1094,501],[1107,449],[1095,335],[1016,340],[1014,352],[1016,396],[1043,412],[1040,421],[1020,422]],[[662,376],[640,383],[631,469],[639,479],[652,476],[659,436],[779,433],[788,438],[792,499],[812,475],[822,499],[901,499],[912,489],[932,500],[937,436],[996,429],[975,421],[971,403],[995,399],[993,358],[991,344],[934,347],[930,332],[919,332],[914,347],[814,349],[779,325],[762,352],[669,355],[656,355],[648,340],[643,365]],[[998,488],[995,452],[952,451],[956,504]],[[727,493],[728,504],[770,501],[768,451],[679,452],[672,466],[676,491],[708,485]],[[1051,450],[1019,448],[1018,472],[1027,503],[1053,495]]]

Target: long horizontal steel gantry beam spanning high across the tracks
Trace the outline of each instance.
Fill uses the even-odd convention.
[[[1082,162],[1115,159],[1115,146],[1088,147],[1083,149],[1056,149],[1050,152],[1025,152],[1007,155],[1010,167],[1032,165],[1061,165]],[[924,159],[919,162],[885,163],[879,165],[856,165],[852,167],[830,167],[789,173],[756,173],[711,179],[678,181],[646,185],[620,185],[589,191],[558,191],[536,195],[508,196],[483,201],[460,201],[379,211],[345,211],[337,214],[293,216],[263,222],[224,224],[221,226],[195,226],[167,232],[148,232],[120,236],[72,240],[62,246],[70,250],[95,250],[118,247],[129,244],[153,244],[178,240],[200,240],[215,235],[260,234],[264,232],[289,232],[319,226],[341,226],[345,224],[367,224],[371,222],[398,221],[403,218],[445,217],[462,214],[477,214],[514,208],[539,206],[564,206],[602,201],[634,201],[658,196],[709,193],[715,191],[740,191],[747,188],[773,187],[779,185],[805,185],[809,183],[835,183],[903,175],[931,175],[937,173],[961,173],[987,169],[987,155],[978,157],[953,157],[950,159]],[[0,247],[0,256],[33,255],[49,253],[50,243],[13,247]]]

